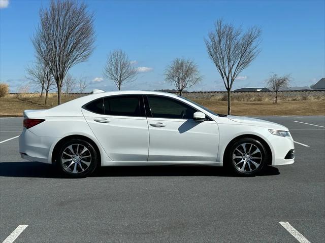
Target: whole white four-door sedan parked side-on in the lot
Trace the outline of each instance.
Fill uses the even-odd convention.
[[[55,163],[71,177],[116,165],[224,165],[252,176],[295,157],[282,125],[215,114],[163,92],[97,90],[49,110],[26,110],[23,124],[21,157]]]

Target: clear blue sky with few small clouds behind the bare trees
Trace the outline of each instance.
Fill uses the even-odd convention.
[[[26,83],[25,68],[34,60],[31,37],[45,0],[0,0],[0,81],[11,92]],[[120,48],[146,72],[122,89],[173,88],[164,81],[176,57],[193,59],[204,76],[189,90],[224,90],[204,38],[214,22],[262,28],[262,52],[233,88],[264,87],[271,72],[291,74],[291,86],[309,86],[325,77],[325,1],[85,1],[94,12],[95,50],[70,73],[84,77],[88,90],[116,90],[103,79],[107,54]],[[145,68],[146,67],[146,68]],[[33,88],[31,87],[31,90]]]

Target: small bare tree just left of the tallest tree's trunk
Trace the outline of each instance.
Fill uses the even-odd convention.
[[[47,105],[48,93],[53,89],[54,80],[52,74],[47,66],[40,62],[27,67],[27,79],[42,87],[41,97],[45,90],[45,105]]]

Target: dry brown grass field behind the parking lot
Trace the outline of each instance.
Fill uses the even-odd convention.
[[[63,95],[62,102],[76,98]],[[24,110],[49,109],[57,105],[57,97],[50,95],[48,105],[44,105],[44,97],[24,95],[0,98],[0,116],[22,116]],[[216,113],[227,113],[227,102],[216,99],[194,99],[195,102]],[[325,100],[293,100],[282,101],[233,101],[232,114],[241,116],[262,115],[325,115]]]

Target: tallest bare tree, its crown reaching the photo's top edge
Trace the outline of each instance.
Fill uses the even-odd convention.
[[[95,41],[93,14],[78,1],[52,0],[40,10],[41,22],[32,39],[37,57],[49,67],[56,82],[58,104],[62,81],[69,69],[86,61]]]

